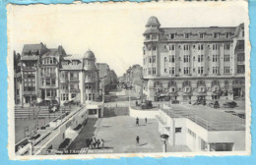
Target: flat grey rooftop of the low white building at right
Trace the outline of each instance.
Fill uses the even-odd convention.
[[[209,131],[244,131],[245,120],[203,105],[170,104],[162,108],[171,118],[188,118]]]

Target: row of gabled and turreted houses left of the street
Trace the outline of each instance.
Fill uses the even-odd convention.
[[[21,54],[14,52],[15,103],[100,101],[104,93],[99,77],[104,71],[100,71],[100,65],[91,50],[77,58],[67,54],[62,46],[25,44]],[[110,73],[116,80],[114,71]]]

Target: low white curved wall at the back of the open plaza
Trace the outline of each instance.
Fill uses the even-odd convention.
[[[159,115],[159,110],[136,110],[129,107],[130,116],[133,118],[148,118],[148,119],[155,119],[156,115]]]

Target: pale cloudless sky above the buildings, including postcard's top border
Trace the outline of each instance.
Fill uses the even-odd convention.
[[[97,63],[107,63],[117,76],[143,62],[143,32],[151,16],[161,27],[235,27],[247,21],[245,2],[90,3],[11,5],[8,47],[24,44],[62,45],[67,54],[83,57],[90,49]],[[11,57],[11,56],[9,56]]]

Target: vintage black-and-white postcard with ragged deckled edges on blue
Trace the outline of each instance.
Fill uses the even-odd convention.
[[[249,155],[247,8],[9,4],[10,158]]]

